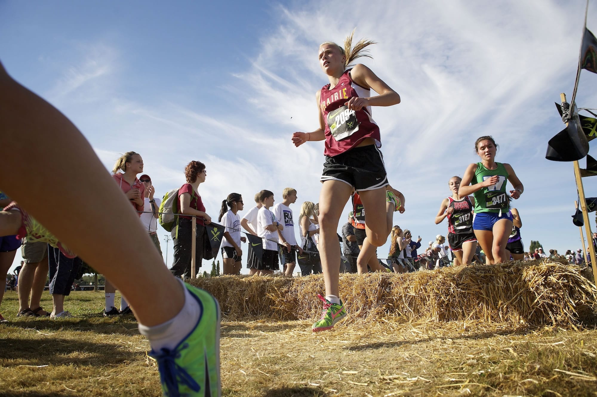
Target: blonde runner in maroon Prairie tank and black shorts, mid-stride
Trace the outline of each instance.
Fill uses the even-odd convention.
[[[364,49],[372,42],[366,42]],[[353,51],[352,35],[344,48],[334,43],[319,46],[319,64],[330,85],[316,92],[319,128],[295,132],[297,147],[307,141],[325,140],[325,164],[319,196],[319,252],[325,280],[324,312],[313,324],[313,331],[328,330],[346,315],[338,297],[340,246],[336,236],[338,221],[353,188],[367,209],[367,241],[382,246],[389,235],[386,223],[387,176],[378,149],[378,126],[371,119],[371,106],[392,106],[400,97],[362,64],[347,70],[362,53]],[[377,92],[370,97],[370,89]],[[329,100],[329,103],[328,103]],[[344,108],[345,107],[345,108]]]

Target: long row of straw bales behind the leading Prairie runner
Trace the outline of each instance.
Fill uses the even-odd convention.
[[[318,318],[322,275],[221,276],[192,284],[210,291],[230,320]],[[576,327],[595,321],[597,289],[565,261],[530,260],[407,274],[341,274],[347,321],[483,321]]]

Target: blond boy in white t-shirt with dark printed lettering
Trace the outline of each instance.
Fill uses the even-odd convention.
[[[273,215],[276,219],[284,224],[284,230],[278,231],[280,244],[284,246],[282,249],[282,265],[284,266],[284,275],[292,276],[294,266],[296,266],[296,254],[294,250],[298,250],[298,254],[303,253],[303,249],[297,245],[297,238],[294,234],[294,218],[293,210],[290,209],[290,204],[297,201],[297,191],[293,188],[285,188],[282,191],[282,202],[272,207]]]

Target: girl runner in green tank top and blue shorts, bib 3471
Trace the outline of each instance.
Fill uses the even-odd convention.
[[[506,244],[512,231],[510,199],[518,199],[524,187],[512,166],[496,162],[497,144],[492,137],[481,137],[475,142],[475,153],[481,162],[470,164],[458,188],[458,195],[475,196],[473,230],[485,252],[488,264],[510,259]],[[513,190],[506,190],[510,181]]]

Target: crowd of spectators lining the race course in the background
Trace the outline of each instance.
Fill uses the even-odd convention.
[[[137,179],[137,175],[141,172],[143,172],[141,156],[135,152],[127,152],[116,162],[113,178],[131,201],[134,209],[139,212],[143,227],[147,229],[156,249],[161,253],[158,218],[162,200],[154,197],[155,188],[149,175],[143,174]],[[186,183],[176,191],[176,209],[181,215],[177,217],[176,225],[171,231],[174,241],[174,262],[171,272],[177,277],[188,278],[192,262],[191,219],[193,216],[197,219],[195,259],[196,263],[200,264],[204,257],[207,241],[206,226],[211,223],[211,216],[206,212],[201,194],[199,194],[199,185],[205,182],[207,177],[205,165],[198,161],[189,162],[184,169],[184,175]],[[241,227],[247,234],[259,237],[263,241],[260,258],[251,249],[252,246],[256,246],[256,243],[248,244],[247,267],[251,275],[282,274],[291,276],[296,264],[303,276],[321,273],[321,262],[318,255],[318,204],[312,201],[303,201],[300,205],[300,215],[298,216],[300,243],[298,243],[295,237],[293,210],[290,207],[296,200],[297,191],[293,188],[286,188],[282,192],[282,202],[278,204],[274,204],[274,194],[271,191],[262,190],[255,195],[256,206],[249,209],[242,218],[237,213],[238,210],[243,209],[241,194],[232,193],[223,200],[219,220],[223,219],[226,228],[224,244],[221,247],[226,265],[224,274],[240,273],[243,253],[241,241],[246,242],[245,237],[240,237]],[[359,234],[357,229],[359,224],[355,220],[355,213],[350,212],[346,223],[341,225],[341,235],[338,234],[338,240],[341,243],[340,269],[343,272],[358,272],[357,258],[361,251],[359,243],[362,244],[364,233],[361,230]],[[381,259],[380,255],[376,255],[377,261],[368,263],[368,271],[383,266],[387,271],[402,273],[434,270],[460,264],[448,247],[443,235],[437,235],[435,240],[429,241],[427,246],[421,249],[422,239],[420,236],[414,238],[409,229],[395,225],[390,232],[389,241],[390,249],[387,259]],[[597,249],[597,232],[593,234],[592,243]],[[18,286],[19,312],[17,315],[71,317],[72,315],[64,310],[64,297],[73,288],[75,276],[78,275],[82,265],[81,260],[67,258],[59,249],[46,243],[27,243],[26,239],[21,245],[21,255],[24,261],[21,261],[21,266],[15,269],[14,274],[9,275],[5,288],[16,290]],[[214,253],[214,255],[217,254]],[[546,253],[543,247],[538,247],[532,252],[524,253],[524,260],[542,258],[565,259],[569,263],[577,265],[581,265],[585,261],[581,249],[576,252],[567,250],[565,255],[559,255],[557,250],[549,250],[549,253]],[[377,262],[381,266],[377,266]],[[485,255],[480,244],[477,244],[473,262],[485,263]],[[197,271],[200,266],[197,266]],[[50,293],[53,297],[52,311],[45,311],[40,305],[41,293],[47,280],[50,280]],[[121,299],[120,308],[116,308],[115,288],[109,280],[106,280],[104,293],[106,300],[104,315],[131,314],[124,297]]]

